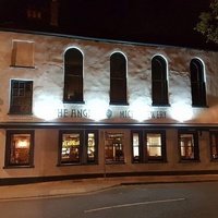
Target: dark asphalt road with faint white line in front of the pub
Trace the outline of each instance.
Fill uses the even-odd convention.
[[[217,218],[218,182],[124,185],[0,202],[1,218]]]

